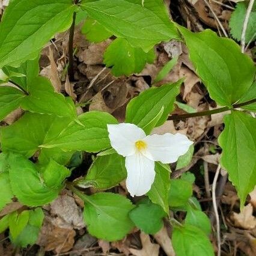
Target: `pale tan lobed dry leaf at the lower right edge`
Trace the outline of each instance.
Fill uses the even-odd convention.
[[[240,213],[233,213],[233,221],[236,227],[252,230],[256,227],[256,218],[252,215],[253,207],[251,204],[245,206]]]

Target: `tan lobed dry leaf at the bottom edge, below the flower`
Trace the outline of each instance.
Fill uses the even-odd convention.
[[[148,236],[148,234],[141,232],[140,237],[141,237],[142,249],[137,250],[137,249],[129,248],[130,252],[135,256],[148,256],[148,255],[158,256],[160,246],[157,245],[156,243],[151,243],[150,236]]]

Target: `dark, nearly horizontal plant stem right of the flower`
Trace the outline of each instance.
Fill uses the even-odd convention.
[[[168,118],[168,120],[180,120],[180,119],[185,119],[190,117],[203,117],[204,115],[218,114],[221,112],[229,111],[231,109],[241,108],[242,106],[246,106],[254,102],[256,102],[256,99],[249,100],[248,102],[233,104],[231,107],[225,106],[222,108],[208,110],[208,111],[201,111],[201,112],[189,113],[189,114],[183,114],[183,115],[172,115],[171,117]]]

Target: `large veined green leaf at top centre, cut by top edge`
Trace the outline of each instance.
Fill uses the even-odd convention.
[[[82,8],[116,37],[126,38],[133,47],[141,47],[145,52],[154,44],[179,37],[159,0],[148,0],[144,7],[136,0],[100,0],[82,2]]]

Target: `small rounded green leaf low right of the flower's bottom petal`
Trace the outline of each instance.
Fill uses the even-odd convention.
[[[192,184],[186,180],[171,180],[168,203],[171,207],[183,206],[192,196]]]

